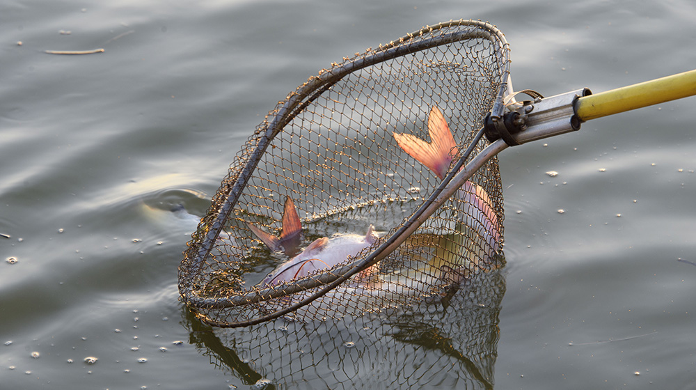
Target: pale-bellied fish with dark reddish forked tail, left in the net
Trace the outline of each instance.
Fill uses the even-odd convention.
[[[287,249],[291,246],[290,242],[299,240],[302,229],[301,221],[290,196],[285,200],[280,237],[262,231],[251,222],[248,222],[248,226],[271,251],[285,249],[286,254]],[[378,238],[379,235],[372,224],[368,226],[365,235],[345,233],[334,235],[331,238],[317,238],[296,256],[278,265],[259,284],[260,286],[274,286],[278,283],[301,279],[313,272],[335,267],[335,265],[345,262],[349,256],[356,256],[363,249],[371,247]],[[374,272],[374,266],[369,267],[358,274],[358,278],[366,278]]]

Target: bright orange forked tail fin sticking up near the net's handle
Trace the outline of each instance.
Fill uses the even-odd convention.
[[[457,143],[454,142],[442,112],[436,106],[433,106],[428,116],[428,134],[430,142],[411,134],[393,133],[394,139],[404,152],[443,179],[450,168],[452,155],[457,154]]]

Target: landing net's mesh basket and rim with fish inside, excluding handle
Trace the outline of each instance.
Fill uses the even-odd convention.
[[[310,77],[230,166],[184,252],[182,301],[219,327],[388,317],[446,305],[503,265],[497,160],[448,185],[487,146],[508,68],[503,34],[460,20]],[[437,144],[441,166],[424,152]]]

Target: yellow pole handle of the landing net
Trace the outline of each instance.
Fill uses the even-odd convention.
[[[586,121],[696,95],[696,70],[579,98],[576,115]]]

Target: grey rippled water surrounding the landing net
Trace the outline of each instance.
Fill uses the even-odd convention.
[[[278,338],[246,338],[235,349],[221,341],[243,334],[211,333],[184,311],[177,265],[195,222],[170,210],[205,212],[267,111],[343,56],[464,17],[496,24],[512,47],[516,88],[545,95],[606,91],[696,63],[696,8],[686,0],[0,8],[0,233],[10,236],[0,237],[0,260],[17,260],[0,263],[3,388],[320,386],[321,359],[315,370],[270,356],[250,370],[245,351]],[[505,295],[493,302],[495,318],[464,313],[462,322],[499,327],[487,345],[495,387],[695,386],[696,267],[677,260],[696,261],[694,99],[593,120],[500,156]],[[356,377],[346,372],[353,367],[377,383],[399,373],[383,387],[470,383],[470,365],[435,372],[454,359],[425,343],[439,328],[370,325],[365,340],[392,340],[392,349],[324,332],[329,350],[348,351],[336,381]]]

